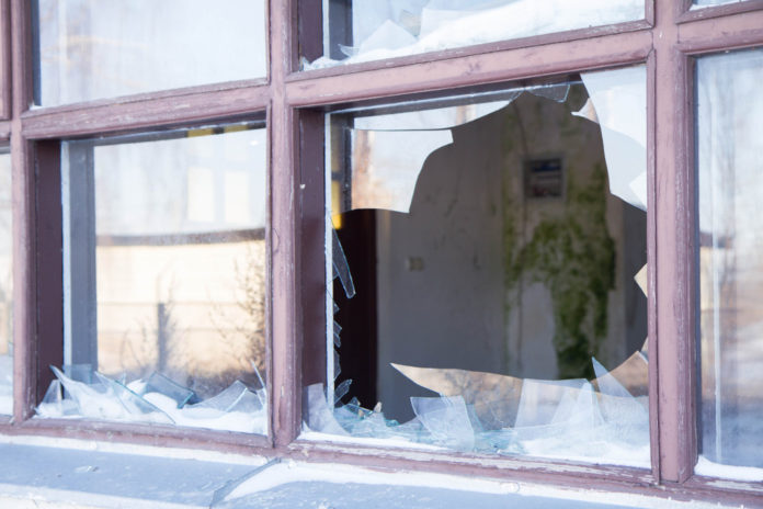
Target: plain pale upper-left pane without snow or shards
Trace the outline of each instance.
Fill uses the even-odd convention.
[[[33,0],[44,106],[266,73],[264,0]]]

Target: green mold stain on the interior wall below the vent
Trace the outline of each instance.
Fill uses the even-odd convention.
[[[560,378],[594,376],[591,357],[607,333],[608,292],[615,284],[615,241],[606,226],[606,171],[595,165],[584,184],[567,173],[563,212],[543,217],[522,242],[519,210],[504,213],[504,274],[508,294],[542,283],[550,292],[554,348]],[[506,316],[517,299],[508,301]]]

